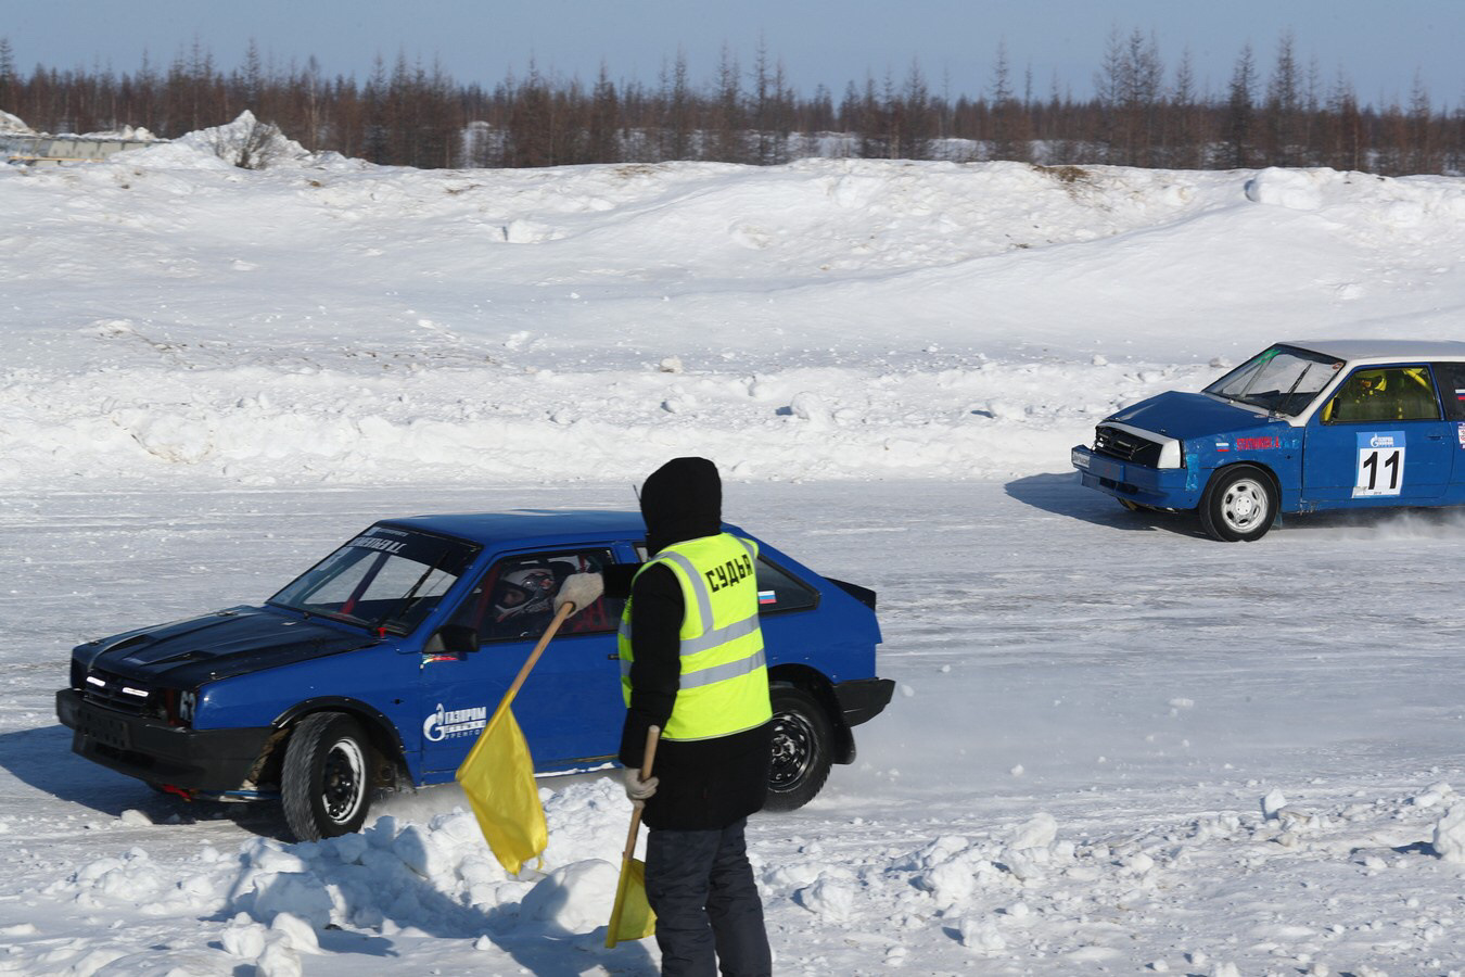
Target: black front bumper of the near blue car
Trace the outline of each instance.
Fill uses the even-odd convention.
[[[186,791],[239,788],[270,738],[270,727],[185,729],[103,709],[75,688],[56,693],[56,718],[72,729],[72,751],[149,784]]]

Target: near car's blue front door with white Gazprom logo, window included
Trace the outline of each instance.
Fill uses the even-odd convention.
[[[544,634],[563,580],[611,562],[608,545],[526,551],[498,558],[479,579],[450,618],[478,628],[479,649],[423,655],[419,702],[428,779],[447,779],[467,756]],[[514,697],[514,719],[538,769],[596,765],[620,747],[626,706],[615,631],[623,605],[602,596],[570,617]]]

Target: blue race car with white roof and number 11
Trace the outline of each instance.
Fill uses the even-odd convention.
[[[1277,513],[1465,502],[1465,343],[1279,343],[1198,394],[1106,417],[1072,450],[1131,510],[1195,510],[1214,539]]]

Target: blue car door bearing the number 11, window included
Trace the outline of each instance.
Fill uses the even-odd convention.
[[[1453,426],[1428,366],[1354,369],[1307,423],[1302,501],[1389,505],[1440,499],[1455,464]]]

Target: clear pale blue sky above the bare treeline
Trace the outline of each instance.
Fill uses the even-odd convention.
[[[277,64],[315,56],[327,75],[365,81],[379,53],[398,51],[459,82],[494,85],[530,57],[541,70],[590,82],[604,60],[615,81],[655,85],[678,47],[691,79],[711,82],[724,42],[752,69],[759,38],[803,95],[847,82],[902,82],[913,59],[933,92],[990,86],[999,42],[1018,91],[1091,91],[1112,29],[1156,35],[1166,73],[1190,48],[1197,82],[1222,92],[1248,41],[1266,79],[1291,29],[1323,91],[1339,70],[1365,103],[1408,103],[1415,72],[1436,108],[1465,100],[1465,0],[0,0],[0,37],[18,67],[110,66],[132,72],[144,51],[167,66],[198,40],[229,70],[249,38]]]

